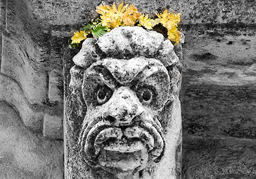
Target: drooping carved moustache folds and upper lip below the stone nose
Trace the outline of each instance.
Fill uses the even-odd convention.
[[[141,150],[139,142],[135,142],[140,141],[151,159],[155,160],[161,155],[164,147],[162,131],[155,121],[140,121],[136,125],[121,128],[102,120],[93,127],[88,126],[81,135],[81,150],[86,153],[86,160],[95,164],[102,148],[119,152],[135,152]],[[125,145],[125,140],[132,146]],[[114,148],[111,149],[110,145]]]

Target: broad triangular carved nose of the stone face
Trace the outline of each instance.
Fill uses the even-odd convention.
[[[144,111],[134,92],[124,86],[113,94],[109,104],[104,119],[118,126],[132,124],[133,120]]]

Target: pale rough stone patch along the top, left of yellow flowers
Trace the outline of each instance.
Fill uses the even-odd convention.
[[[36,1],[30,0],[29,7],[31,13],[36,18],[46,20],[51,25],[74,25],[84,23],[84,21],[97,16],[96,6],[102,1]],[[106,4],[112,4],[113,1],[104,1]],[[117,4],[124,1],[115,1]]]

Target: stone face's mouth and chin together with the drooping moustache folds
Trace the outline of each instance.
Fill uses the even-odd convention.
[[[140,171],[148,161],[161,157],[164,142],[160,133],[150,123],[119,128],[101,121],[89,130],[81,144],[84,159],[89,165],[111,173]]]

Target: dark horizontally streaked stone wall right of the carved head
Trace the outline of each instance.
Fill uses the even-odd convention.
[[[190,25],[184,31],[183,177],[255,178],[253,152],[241,154],[255,143],[253,26]]]

